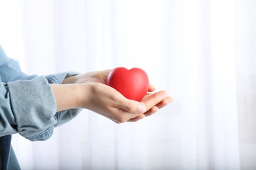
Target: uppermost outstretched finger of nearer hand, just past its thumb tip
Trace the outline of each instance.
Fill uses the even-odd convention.
[[[147,110],[149,110],[167,97],[167,92],[165,90],[161,90],[160,92],[150,95],[147,99],[142,101],[142,103],[144,103],[144,105],[146,105]]]

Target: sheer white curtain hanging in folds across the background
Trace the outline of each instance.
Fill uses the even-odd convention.
[[[22,169],[255,169],[256,3],[0,0],[0,43],[30,74],[140,67],[173,103],[137,123],[83,110]]]

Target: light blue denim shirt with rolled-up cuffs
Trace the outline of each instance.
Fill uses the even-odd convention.
[[[20,169],[11,147],[11,135],[19,133],[30,141],[45,141],[53,129],[72,120],[81,109],[56,112],[49,84],[61,84],[77,73],[28,76],[18,62],[7,58],[0,46],[0,169]]]

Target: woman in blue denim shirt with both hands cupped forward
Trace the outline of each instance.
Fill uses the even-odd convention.
[[[20,169],[11,147],[11,135],[45,141],[53,129],[89,109],[116,123],[136,122],[171,102],[167,92],[150,86],[142,101],[126,99],[106,85],[110,70],[78,75],[58,73],[28,76],[0,46],[0,167]]]

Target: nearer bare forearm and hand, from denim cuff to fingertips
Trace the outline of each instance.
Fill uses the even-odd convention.
[[[165,91],[148,92],[140,102],[130,100],[114,88],[100,82],[50,86],[56,101],[56,111],[82,107],[116,123],[136,122],[171,102],[171,97]]]

